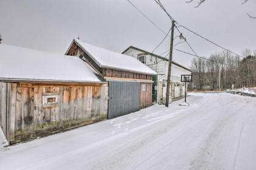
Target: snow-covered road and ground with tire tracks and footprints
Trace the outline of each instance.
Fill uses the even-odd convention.
[[[179,103],[0,149],[0,169],[256,169],[256,98]]]

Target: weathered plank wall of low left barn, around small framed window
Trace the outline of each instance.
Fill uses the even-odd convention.
[[[106,84],[102,86],[8,84],[10,84],[10,97],[7,136],[10,143],[49,135],[107,118]],[[47,95],[57,96],[58,102],[43,104],[43,97]]]

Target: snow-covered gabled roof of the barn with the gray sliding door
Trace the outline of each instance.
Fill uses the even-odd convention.
[[[126,70],[130,72],[144,73],[148,75],[156,75],[154,70],[144,65],[136,58],[121,53],[112,52],[101,47],[87,44],[79,39],[74,39],[76,42],[96,63],[102,68]],[[71,44],[73,44],[73,42]]]

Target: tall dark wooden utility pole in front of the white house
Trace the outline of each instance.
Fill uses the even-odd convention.
[[[169,53],[169,67],[168,67],[168,76],[167,76],[165,107],[169,107],[169,94],[170,94],[170,83],[171,83],[170,82],[171,81],[171,61],[172,61],[174,26],[175,26],[175,21],[172,20],[172,24],[171,24],[171,44],[170,44],[170,53]]]

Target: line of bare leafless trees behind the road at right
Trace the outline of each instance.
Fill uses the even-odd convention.
[[[256,50],[243,51],[244,58],[223,51],[191,62],[193,83],[190,90],[220,90],[256,86]]]

